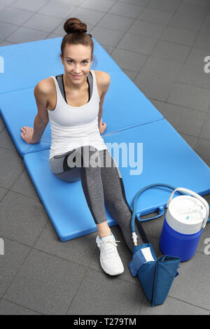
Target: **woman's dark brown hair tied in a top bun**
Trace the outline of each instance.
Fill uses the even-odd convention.
[[[87,34],[87,25],[78,18],[68,18],[64,22],[64,31],[66,35],[62,39],[61,53],[64,57],[64,48],[66,43],[71,45],[89,45],[91,48],[91,58],[94,51],[94,43],[91,34]],[[90,59],[91,59],[90,58]]]

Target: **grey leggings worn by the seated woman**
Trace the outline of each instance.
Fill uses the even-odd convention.
[[[50,159],[50,169],[58,179],[67,182],[81,180],[87,206],[94,222],[106,221],[106,208],[120,226],[127,246],[133,249],[130,219],[132,211],[125,197],[120,169],[108,150],[98,151],[93,146],[75,148]],[[137,231],[137,230],[136,230]],[[141,237],[138,232],[138,242]]]

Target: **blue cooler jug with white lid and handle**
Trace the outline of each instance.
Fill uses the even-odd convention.
[[[172,200],[176,191],[190,195]],[[163,255],[179,257],[181,262],[193,257],[208,218],[209,204],[203,197],[187,188],[176,188],[169,197],[160,236]]]

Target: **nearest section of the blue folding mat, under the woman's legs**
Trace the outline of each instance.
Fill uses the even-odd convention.
[[[165,119],[111,134],[104,137],[104,141],[120,167],[130,207],[134,195],[141,188],[157,182],[183,186],[200,195],[210,192],[209,167]],[[127,155],[130,167],[123,167],[126,162],[118,161],[118,153],[114,153],[112,148],[114,143],[124,147],[124,152],[130,145],[127,154],[134,146],[136,158]],[[137,143],[143,143],[143,161],[140,150],[139,164],[135,168],[131,160],[137,162]],[[66,241],[95,232],[97,227],[87,207],[80,181],[66,183],[57,179],[50,172],[48,158],[49,150],[27,153],[24,162],[59,239]],[[131,174],[137,168],[139,174]],[[165,207],[169,195],[167,188],[146,191],[137,202],[137,214],[149,214]],[[107,209],[106,215],[109,225],[116,225]],[[130,221],[130,218],[127,220]]]

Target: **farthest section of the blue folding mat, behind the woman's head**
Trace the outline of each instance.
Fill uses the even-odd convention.
[[[120,71],[111,56],[94,41],[94,58],[91,69],[98,71]],[[48,76],[64,73],[59,57],[62,37],[0,47],[4,73],[0,74],[0,94],[13,90],[34,87]]]

